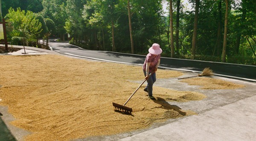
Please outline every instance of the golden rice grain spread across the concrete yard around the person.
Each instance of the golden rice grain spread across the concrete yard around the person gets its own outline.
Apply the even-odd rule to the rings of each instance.
[[[62,55],[0,56],[0,105],[15,117],[11,124],[31,134],[26,141],[69,141],[113,135],[150,127],[155,122],[197,113],[168,100],[202,100],[198,92],[154,86],[156,101],[140,88],[126,106],[133,115],[114,112],[112,102],[123,104],[144,76],[141,66],[69,58]],[[157,70],[157,78],[181,72]]]

